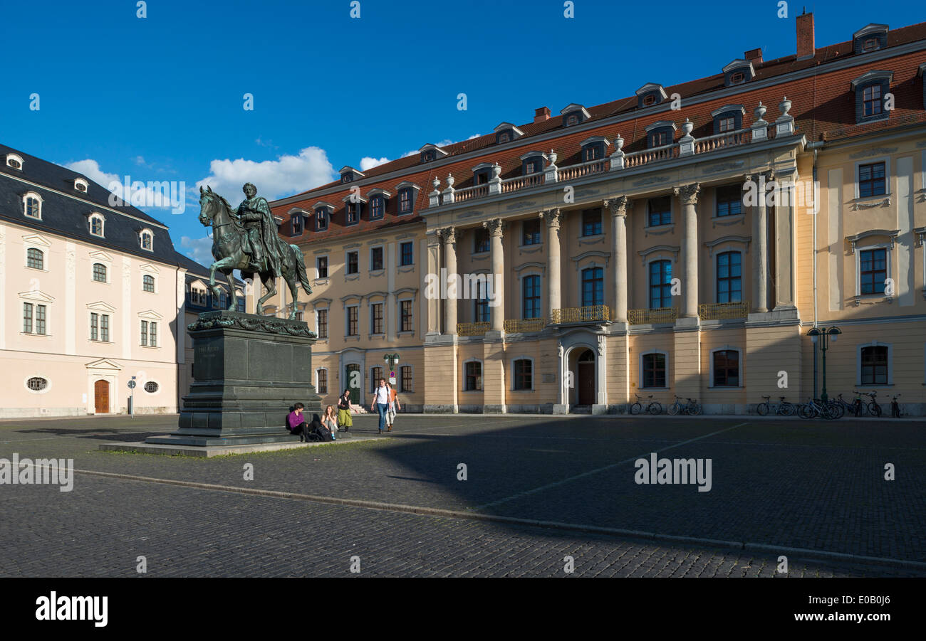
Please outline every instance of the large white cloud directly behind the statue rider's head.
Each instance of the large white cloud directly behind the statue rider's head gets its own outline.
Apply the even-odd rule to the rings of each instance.
[[[272,200],[310,190],[336,176],[325,150],[306,147],[298,155],[285,154],[277,160],[213,160],[209,163],[209,175],[195,186],[208,185],[230,203],[237,203],[244,198],[241,188],[245,182],[253,182],[258,195]]]

